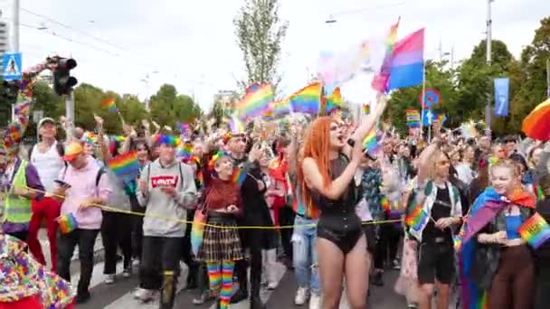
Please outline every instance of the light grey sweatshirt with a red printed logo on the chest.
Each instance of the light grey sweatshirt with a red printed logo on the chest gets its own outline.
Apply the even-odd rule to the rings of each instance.
[[[184,237],[187,211],[185,207],[194,205],[196,186],[191,166],[174,161],[163,166],[159,159],[143,168],[140,179],[147,181],[147,194],[137,191],[137,201],[146,207],[143,219],[143,235],[152,237]],[[175,197],[161,191],[162,186],[174,186]],[[164,220],[153,217],[173,218]]]

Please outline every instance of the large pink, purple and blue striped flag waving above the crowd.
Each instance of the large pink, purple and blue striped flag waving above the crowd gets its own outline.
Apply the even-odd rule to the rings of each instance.
[[[424,29],[396,42],[390,67],[389,89],[422,84],[424,76]]]

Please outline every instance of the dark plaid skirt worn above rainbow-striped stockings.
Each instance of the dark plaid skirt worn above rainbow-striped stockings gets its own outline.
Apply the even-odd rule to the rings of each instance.
[[[204,227],[203,244],[198,258],[205,262],[234,261],[242,259],[242,245],[234,219],[209,218]],[[227,229],[230,228],[230,229]]]

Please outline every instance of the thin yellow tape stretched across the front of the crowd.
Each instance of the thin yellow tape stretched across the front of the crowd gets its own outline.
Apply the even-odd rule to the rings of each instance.
[[[55,193],[52,193],[52,192],[37,190],[37,189],[30,188],[30,187],[26,187],[26,189],[28,189],[30,191],[33,191],[33,192],[39,192],[39,193],[47,194],[47,196],[53,196],[53,197],[57,197],[57,198],[60,198],[60,199],[65,198],[62,195],[55,194]],[[271,227],[268,227],[268,226],[255,226],[255,225],[235,226],[235,227],[220,227],[219,225],[208,224],[208,223],[205,223],[205,222],[194,222],[194,221],[190,221],[190,220],[182,220],[182,219],[177,219],[177,218],[158,216],[158,215],[152,214],[152,213],[146,214],[146,213],[141,213],[141,212],[136,212],[136,211],[124,211],[124,210],[119,210],[118,208],[115,208],[115,207],[105,206],[105,205],[101,205],[101,204],[97,204],[97,203],[91,203],[90,206],[99,208],[102,211],[119,212],[119,213],[135,215],[135,216],[142,216],[142,217],[148,217],[148,218],[159,219],[159,220],[175,221],[175,222],[184,223],[184,224],[188,224],[188,223],[195,223],[196,224],[196,223],[198,223],[200,225],[203,225],[204,227],[210,227],[210,228],[214,228],[214,229],[294,229],[294,228],[311,228],[311,227],[317,226],[316,223],[310,223],[310,224],[296,224],[296,225],[283,225],[283,226],[271,226]],[[401,221],[403,221],[403,219],[368,221],[368,222],[362,222],[362,225],[395,223],[395,222],[401,222]]]

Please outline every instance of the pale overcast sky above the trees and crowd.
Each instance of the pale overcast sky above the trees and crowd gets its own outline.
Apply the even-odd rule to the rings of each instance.
[[[12,20],[13,3],[0,0],[1,18]],[[52,54],[72,57],[78,62],[72,75],[80,82],[142,99],[170,83],[208,110],[216,92],[236,89],[236,80],[244,76],[232,23],[243,4],[244,0],[20,0],[23,67]],[[496,0],[493,39],[506,42],[518,57],[549,13],[550,1]],[[399,38],[425,27],[425,59],[437,60],[451,51],[455,63],[468,58],[485,38],[487,1],[280,0],[280,15],[289,22],[282,44],[280,90],[289,94],[306,86],[316,73],[320,51],[386,33],[399,17]],[[336,23],[326,23],[329,19]],[[450,60],[450,55],[443,57]],[[359,76],[346,83],[344,98],[371,101],[371,78]]]

